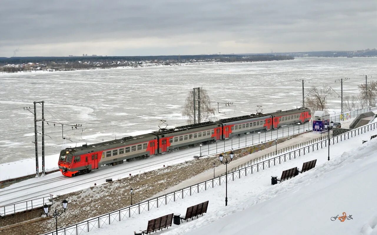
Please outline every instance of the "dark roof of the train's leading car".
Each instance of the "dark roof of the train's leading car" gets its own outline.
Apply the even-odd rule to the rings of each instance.
[[[137,143],[151,140],[151,139],[156,139],[156,136],[150,133],[147,133],[144,135],[127,136],[121,139],[114,139],[114,140],[105,141],[105,142],[97,143],[97,144],[89,144],[89,145],[83,144],[82,146],[78,146],[74,148],[66,148],[66,149],[72,150],[73,152],[75,152],[75,154],[80,153],[81,155],[88,152],[97,152],[97,151],[102,151],[106,149],[121,147],[124,145],[129,145],[129,144],[137,144]]]

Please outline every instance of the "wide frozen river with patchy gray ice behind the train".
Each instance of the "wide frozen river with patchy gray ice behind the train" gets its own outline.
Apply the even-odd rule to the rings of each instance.
[[[327,84],[340,94],[335,79],[350,77],[343,85],[344,95],[356,94],[357,85],[365,82],[360,74],[375,79],[377,58],[0,74],[0,164],[34,158],[34,116],[23,110],[33,101],[45,101],[46,120],[82,124],[82,129],[74,130],[64,126],[66,139],[61,125],[46,125],[49,156],[76,143],[157,130],[161,119],[170,126],[184,125],[182,105],[194,87],[207,89],[214,102],[234,103],[219,105],[220,119],[255,113],[257,105],[263,106],[263,112],[300,107],[302,84],[296,79],[310,81],[305,88]],[[217,111],[217,104],[213,106]],[[333,98],[329,106],[340,109],[340,98]]]

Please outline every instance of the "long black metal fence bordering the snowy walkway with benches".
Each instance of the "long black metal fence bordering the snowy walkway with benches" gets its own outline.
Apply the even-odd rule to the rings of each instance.
[[[334,136],[330,138],[330,144],[339,143],[340,141],[368,132],[369,130],[374,130],[376,127],[377,127],[377,123],[371,123],[366,126],[359,127],[357,129],[343,133],[341,135]],[[185,197],[192,196],[193,194],[206,191],[209,188],[214,188],[218,185],[222,185],[225,183],[225,180],[228,180],[228,182],[230,182],[235,179],[239,179],[242,176],[247,176],[249,174],[253,174],[261,170],[264,170],[266,168],[273,167],[277,164],[281,164],[282,162],[299,158],[300,156],[303,156],[305,154],[314,152],[321,148],[325,148],[327,147],[327,145],[328,145],[328,140],[327,139],[322,140],[317,143],[304,146],[300,149],[287,152],[284,155],[276,156],[274,158],[266,159],[256,164],[248,165],[244,168],[240,168],[236,171],[233,171],[227,175],[214,177],[213,179],[206,180],[204,182],[200,182],[200,183],[197,183],[197,184],[185,187],[185,188],[181,188],[171,193],[167,193],[167,194],[155,197],[153,199],[149,199],[144,202],[134,204],[132,206],[127,206],[117,211],[113,211],[104,215],[100,215],[95,218],[91,218],[89,220],[82,221],[77,224],[73,224],[71,226],[61,228],[58,230],[58,234],[56,234],[56,232],[49,232],[49,233],[45,233],[44,235],[81,235],[86,232],[90,232],[92,230],[101,228],[107,224],[112,224],[116,221],[121,221],[126,218],[132,217],[135,214],[141,214],[143,212],[150,211],[154,208],[159,208],[161,206],[164,206],[169,202],[175,202],[177,200],[184,199]]]

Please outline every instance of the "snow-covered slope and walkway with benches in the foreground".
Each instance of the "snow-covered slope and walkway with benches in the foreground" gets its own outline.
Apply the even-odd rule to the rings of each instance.
[[[375,134],[377,130],[330,146],[330,161],[325,148],[231,181],[227,207],[222,185],[89,234],[133,234],[146,229],[150,219],[173,212],[184,215],[188,206],[207,200],[204,216],[154,234],[377,234],[372,206],[377,193],[377,138],[362,144]],[[313,159],[316,168],[271,185],[271,175],[280,176],[283,170]],[[343,212],[352,219],[331,220]]]

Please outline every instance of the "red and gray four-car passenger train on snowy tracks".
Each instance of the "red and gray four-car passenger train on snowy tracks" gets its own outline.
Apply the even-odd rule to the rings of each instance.
[[[129,161],[132,158],[209,144],[244,133],[277,129],[287,124],[305,123],[310,119],[309,109],[298,108],[162,129],[144,135],[66,148],[60,152],[58,165],[64,176],[72,177],[104,165],[122,164],[124,160]]]

